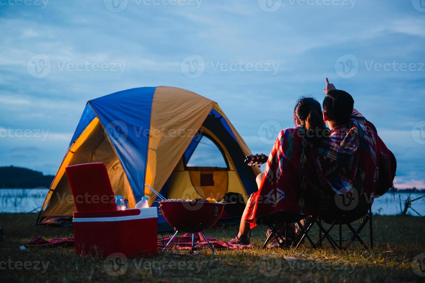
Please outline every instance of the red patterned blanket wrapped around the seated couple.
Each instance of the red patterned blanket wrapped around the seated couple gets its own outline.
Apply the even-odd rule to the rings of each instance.
[[[258,192],[251,196],[245,220],[280,211],[326,215],[336,208],[335,195],[351,191],[373,201],[380,151],[388,149],[372,123],[354,109],[340,144],[324,139],[313,144],[303,126],[284,129],[267,160]],[[341,134],[341,133],[340,133]]]

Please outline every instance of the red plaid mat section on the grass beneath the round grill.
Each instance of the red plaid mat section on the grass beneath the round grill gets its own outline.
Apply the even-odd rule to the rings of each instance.
[[[165,245],[170,241],[172,236],[166,236],[163,238],[158,238],[158,248],[164,248]],[[252,244],[250,245],[238,245],[231,244],[230,242],[218,241],[217,239],[207,237],[208,241],[214,249],[251,249]],[[192,234],[186,233],[182,236],[176,236],[173,238],[173,241],[168,245],[168,247],[175,247],[178,249],[191,249],[192,248]],[[168,248],[167,247],[167,248]],[[208,247],[207,241],[202,238],[201,234],[195,234],[195,248],[198,247]]]

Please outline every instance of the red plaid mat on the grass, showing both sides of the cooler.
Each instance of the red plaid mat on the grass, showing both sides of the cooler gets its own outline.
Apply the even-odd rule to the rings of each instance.
[[[158,248],[162,249],[170,241],[172,236],[166,236],[158,238]],[[210,244],[215,249],[244,249],[252,248],[251,245],[237,245],[230,244],[230,242],[218,241],[217,239],[207,237]],[[51,247],[74,247],[74,238],[52,238],[50,241],[46,241],[41,237],[34,237],[31,241],[24,244],[23,247],[40,247],[40,248],[51,248]],[[176,236],[173,241],[168,245],[169,247],[176,247],[178,249],[191,249],[192,248],[192,234],[184,234],[182,236]],[[207,241],[201,238],[201,235],[195,234],[195,247],[208,247]]]

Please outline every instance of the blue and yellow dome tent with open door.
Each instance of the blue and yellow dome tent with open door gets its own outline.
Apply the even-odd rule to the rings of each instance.
[[[187,163],[203,136],[220,149],[225,166]],[[246,202],[260,173],[244,165],[249,153],[217,103],[194,92],[140,87],[105,95],[88,101],[37,223],[70,223],[76,209],[65,167],[81,163],[105,163],[114,193],[127,198],[130,208],[142,196],[156,205],[145,183],[170,199],[236,193]]]

